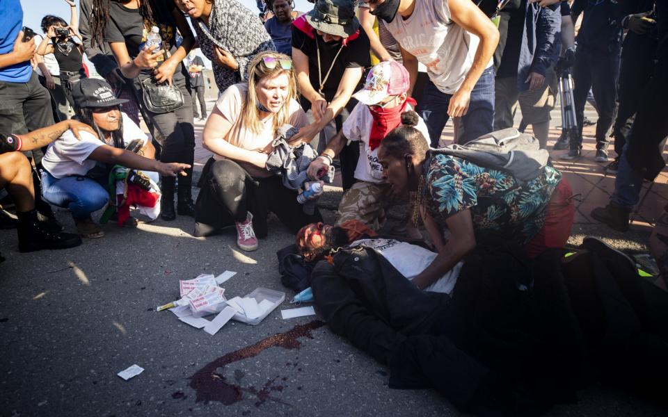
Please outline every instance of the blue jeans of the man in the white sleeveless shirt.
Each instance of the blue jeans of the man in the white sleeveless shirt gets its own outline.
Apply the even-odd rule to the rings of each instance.
[[[447,106],[450,105],[451,94],[445,94],[436,88],[429,80],[424,85],[420,103],[417,104],[417,113],[427,124],[431,147],[438,147],[443,128],[450,116],[447,115]],[[494,124],[494,67],[489,67],[480,76],[471,91],[471,101],[468,111],[461,119],[464,125],[464,135],[460,144],[491,132]]]

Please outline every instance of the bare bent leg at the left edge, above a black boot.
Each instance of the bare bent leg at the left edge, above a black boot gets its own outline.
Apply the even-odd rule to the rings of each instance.
[[[35,208],[33,173],[28,158],[20,152],[0,155],[0,188],[7,187],[16,211],[26,213]]]

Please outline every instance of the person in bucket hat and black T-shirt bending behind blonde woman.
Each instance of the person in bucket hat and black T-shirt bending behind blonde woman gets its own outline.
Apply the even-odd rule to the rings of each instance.
[[[320,133],[321,151],[341,129],[356,104],[351,96],[361,87],[364,69],[371,66],[370,48],[351,0],[317,0],[310,13],[292,22],[292,59],[301,102],[315,120],[296,139],[311,140]],[[358,156],[356,146],[340,152],[344,189],[355,181]]]

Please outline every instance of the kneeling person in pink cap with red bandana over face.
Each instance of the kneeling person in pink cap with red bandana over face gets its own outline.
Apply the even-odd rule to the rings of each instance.
[[[343,195],[335,224],[359,220],[377,230],[385,220],[385,209],[402,197],[407,200],[408,196],[394,195],[390,184],[383,180],[378,147],[381,140],[401,124],[401,114],[411,110],[409,105],[415,106],[415,100],[407,95],[409,85],[410,76],[403,65],[385,61],[373,67],[364,88],[353,95],[359,103],[339,133],[308,167],[309,176],[317,179],[319,173],[327,171],[332,159],[349,140],[359,142],[360,158],[355,169],[357,181]],[[422,119],[415,129],[422,131],[425,138],[429,137]]]

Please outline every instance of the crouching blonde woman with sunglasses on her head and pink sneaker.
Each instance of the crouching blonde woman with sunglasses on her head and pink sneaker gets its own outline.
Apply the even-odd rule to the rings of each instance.
[[[237,246],[256,250],[257,237],[267,236],[269,211],[292,233],[321,220],[317,209],[305,214],[297,192],[266,168],[280,126],[308,125],[296,93],[292,60],[264,51],[248,65],[248,83],[231,85],[218,98],[204,128],[202,145],[214,156],[202,170],[195,236],[236,224]]]

